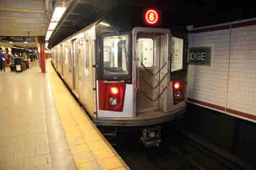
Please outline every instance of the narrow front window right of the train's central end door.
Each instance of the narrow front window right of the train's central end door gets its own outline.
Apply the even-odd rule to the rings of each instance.
[[[172,38],[172,72],[183,68],[183,39]]]

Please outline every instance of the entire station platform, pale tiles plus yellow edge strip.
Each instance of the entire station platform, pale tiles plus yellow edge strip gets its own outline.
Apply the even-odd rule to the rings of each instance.
[[[50,59],[0,72],[0,169],[130,169],[84,114]]]

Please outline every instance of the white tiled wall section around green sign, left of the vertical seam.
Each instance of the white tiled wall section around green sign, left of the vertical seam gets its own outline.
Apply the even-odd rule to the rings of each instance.
[[[230,30],[189,34],[189,47],[211,46],[211,66],[188,65],[187,97],[226,107]]]

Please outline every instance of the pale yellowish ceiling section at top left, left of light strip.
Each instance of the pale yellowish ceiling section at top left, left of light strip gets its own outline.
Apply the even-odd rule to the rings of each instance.
[[[46,11],[41,0],[0,1],[1,36],[45,36]]]

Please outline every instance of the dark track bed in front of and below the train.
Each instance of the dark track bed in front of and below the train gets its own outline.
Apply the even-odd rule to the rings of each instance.
[[[251,169],[210,151],[179,132],[168,134],[163,136],[159,147],[148,148],[138,142],[138,136],[120,134],[115,149],[131,169]]]

